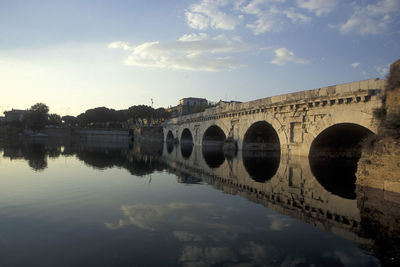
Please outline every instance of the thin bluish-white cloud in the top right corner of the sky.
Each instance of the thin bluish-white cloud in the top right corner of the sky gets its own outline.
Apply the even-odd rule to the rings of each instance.
[[[392,21],[391,14],[397,13],[399,9],[399,0],[382,0],[366,6],[357,5],[354,13],[339,29],[343,33],[378,34],[387,30]]]

